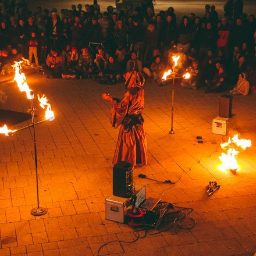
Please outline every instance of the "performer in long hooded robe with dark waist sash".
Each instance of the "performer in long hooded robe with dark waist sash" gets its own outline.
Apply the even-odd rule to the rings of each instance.
[[[111,123],[118,128],[119,136],[116,143],[113,164],[119,161],[131,163],[133,166],[147,164],[147,138],[143,128],[144,109],[144,77],[135,70],[125,75],[127,92],[122,100],[102,94],[102,98],[112,102]]]

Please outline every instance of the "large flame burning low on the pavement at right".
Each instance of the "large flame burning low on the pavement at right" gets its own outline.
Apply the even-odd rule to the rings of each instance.
[[[236,147],[236,149],[234,148]],[[237,170],[239,165],[236,160],[236,155],[239,154],[239,148],[246,150],[246,148],[251,147],[251,141],[245,140],[244,138],[239,138],[238,134],[235,134],[232,138],[229,137],[229,140],[225,143],[221,143],[221,148],[227,149],[227,154],[222,152],[219,159],[222,161],[220,169],[230,169]]]

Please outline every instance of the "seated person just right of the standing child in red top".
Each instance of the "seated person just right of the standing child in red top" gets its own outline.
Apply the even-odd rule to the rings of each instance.
[[[44,73],[47,77],[61,77],[62,72],[62,56],[59,52],[52,48],[51,52],[47,55],[46,66],[44,67]]]

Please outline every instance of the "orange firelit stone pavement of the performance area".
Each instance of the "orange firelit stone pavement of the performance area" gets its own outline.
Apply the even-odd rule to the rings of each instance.
[[[122,84],[105,86],[94,80],[28,78],[36,93],[51,100],[56,119],[37,126],[40,204],[46,215],[34,217],[36,206],[33,139],[31,130],[13,137],[0,136],[0,255],[97,255],[111,240],[132,240],[133,230],[105,220],[105,198],[112,194],[112,156],[118,130],[109,123],[109,102],[102,93],[122,97]],[[26,112],[30,102],[14,83],[1,84],[8,101],[3,109]],[[137,187],[147,195],[184,207],[193,207],[197,225],[150,235],[136,243],[113,243],[101,250],[112,255],[253,255],[256,251],[256,95],[235,97],[237,130],[252,140],[239,155],[237,175],[217,169],[218,147],[227,136],[211,133],[218,115],[219,94],[176,87],[175,134],[170,130],[170,86],[145,85],[145,129],[148,165],[134,169]],[[37,105],[37,102],[36,102]],[[43,111],[38,106],[38,118]],[[20,123],[22,127],[29,122]],[[13,128],[13,127],[11,127]],[[204,138],[198,144],[196,136]],[[218,152],[214,152],[218,150]],[[211,157],[208,157],[211,155]],[[202,158],[203,157],[203,158]],[[200,163],[198,163],[198,160]],[[158,184],[137,177],[144,173]],[[211,180],[221,189],[211,197],[205,187]]]

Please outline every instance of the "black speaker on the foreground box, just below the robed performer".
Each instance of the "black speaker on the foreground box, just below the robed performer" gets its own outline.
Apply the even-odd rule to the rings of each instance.
[[[133,194],[133,165],[124,161],[113,166],[113,195],[129,198]]]

